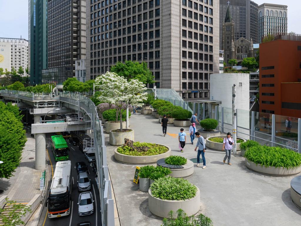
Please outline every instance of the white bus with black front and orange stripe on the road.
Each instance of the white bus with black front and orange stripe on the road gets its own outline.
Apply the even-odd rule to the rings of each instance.
[[[48,217],[57,218],[70,214],[71,205],[71,161],[60,161],[55,165],[49,196]]]

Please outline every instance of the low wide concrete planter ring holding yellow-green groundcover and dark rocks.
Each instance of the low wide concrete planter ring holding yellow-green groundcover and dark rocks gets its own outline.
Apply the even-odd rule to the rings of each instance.
[[[131,140],[131,139],[130,139]],[[124,143],[124,140],[123,140]],[[141,165],[141,164],[150,164],[156,163],[158,159],[166,158],[171,155],[171,148],[169,146],[160,144],[168,148],[168,151],[160,155],[149,155],[149,156],[132,156],[132,155],[123,155],[117,152],[117,148],[114,151],[114,157],[118,162],[125,164]]]

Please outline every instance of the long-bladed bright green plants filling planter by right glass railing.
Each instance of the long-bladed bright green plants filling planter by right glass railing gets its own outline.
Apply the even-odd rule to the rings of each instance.
[[[252,146],[245,152],[245,158],[260,165],[293,168],[301,165],[301,154],[281,147]]]

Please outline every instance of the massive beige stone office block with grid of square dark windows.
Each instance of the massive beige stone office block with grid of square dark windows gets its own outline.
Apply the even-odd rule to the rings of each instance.
[[[219,72],[217,1],[91,0],[88,12],[87,79],[117,61],[145,61],[157,88],[209,97],[210,74]]]

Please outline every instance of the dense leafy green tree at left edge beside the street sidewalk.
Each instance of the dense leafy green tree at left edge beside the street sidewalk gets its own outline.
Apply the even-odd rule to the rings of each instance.
[[[21,117],[17,106],[0,102],[0,178],[12,177],[21,162],[27,140]]]

